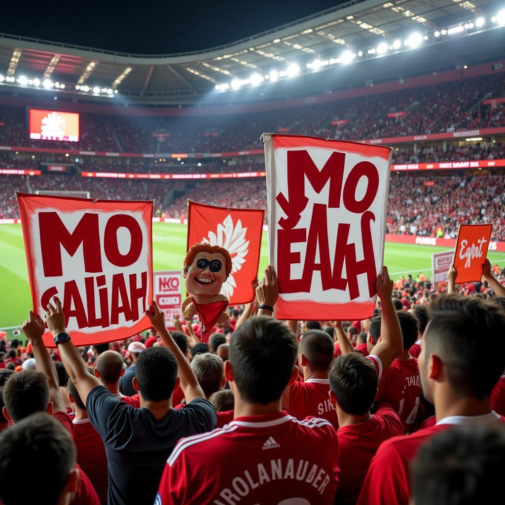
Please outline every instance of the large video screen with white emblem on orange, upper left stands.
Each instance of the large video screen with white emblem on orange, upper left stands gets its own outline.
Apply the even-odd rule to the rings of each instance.
[[[79,114],[30,109],[30,138],[79,141]]]

